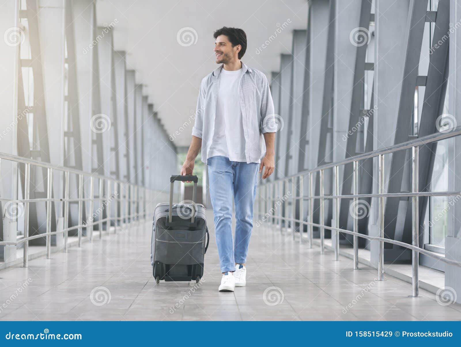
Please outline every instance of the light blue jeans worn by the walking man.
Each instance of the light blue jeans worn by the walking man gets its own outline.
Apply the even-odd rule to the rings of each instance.
[[[212,156],[207,165],[219,265],[221,272],[235,271],[235,263],[243,264],[247,259],[260,164],[231,162],[225,156]],[[233,244],[232,197],[236,217]]]

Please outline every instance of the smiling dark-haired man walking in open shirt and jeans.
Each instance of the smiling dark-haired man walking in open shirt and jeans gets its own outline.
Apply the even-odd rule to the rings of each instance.
[[[192,141],[181,169],[192,174],[194,160],[208,166],[216,244],[223,273],[219,291],[246,284],[246,258],[253,228],[258,168],[263,179],[274,171],[275,117],[269,83],[243,64],[247,35],[223,27],[214,32],[216,63],[201,81]],[[232,198],[236,214],[232,243]]]

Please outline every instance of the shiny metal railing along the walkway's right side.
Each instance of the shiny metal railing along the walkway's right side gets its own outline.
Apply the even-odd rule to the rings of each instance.
[[[334,253],[335,259],[338,260],[339,255],[339,233],[343,232],[349,235],[353,235],[353,248],[354,248],[354,269],[358,269],[358,237],[362,237],[368,240],[378,241],[378,280],[384,280],[384,242],[392,243],[407,249],[411,249],[412,251],[412,296],[416,297],[419,295],[419,279],[418,279],[418,268],[419,268],[419,254],[425,254],[430,256],[434,259],[440,260],[445,264],[460,266],[461,263],[455,260],[447,259],[441,255],[434,254],[426,249],[422,249],[419,247],[419,197],[452,197],[452,196],[461,196],[461,192],[459,191],[435,191],[435,192],[428,192],[428,191],[419,191],[418,187],[418,177],[419,177],[419,147],[422,145],[431,144],[437,141],[441,141],[443,139],[450,139],[455,136],[461,135],[461,126],[456,127],[453,131],[447,133],[433,133],[418,139],[412,139],[407,142],[403,142],[401,144],[392,145],[389,147],[381,148],[378,150],[373,150],[367,153],[361,153],[356,156],[351,156],[345,158],[343,160],[337,162],[331,162],[325,165],[320,165],[316,168],[304,170],[299,173],[295,173],[284,179],[275,179],[270,182],[263,183],[258,186],[258,190],[260,194],[258,194],[257,199],[257,214],[261,218],[264,211],[268,210],[268,206],[270,205],[270,212],[273,213],[276,211],[277,208],[274,208],[275,204],[277,203],[278,206],[281,204],[285,205],[284,213],[283,209],[280,209],[279,215],[269,215],[265,214],[265,217],[268,217],[270,224],[276,224],[280,230],[282,230],[282,220],[285,221],[285,227],[288,229],[288,223],[291,222],[292,226],[295,223],[300,223],[300,243],[302,242],[302,233],[301,233],[301,225],[307,225],[307,239],[309,242],[310,247],[313,245],[313,226],[319,228],[320,232],[320,253],[323,254],[325,250],[325,229],[334,231],[334,235],[332,235],[331,239],[334,238]],[[412,150],[411,156],[411,192],[404,192],[404,193],[384,193],[384,155],[395,153],[399,150]],[[379,177],[379,192],[378,194],[359,194],[358,193],[358,185],[359,185],[359,174],[358,174],[358,162],[365,159],[370,159],[374,157],[379,157],[378,161],[378,177]],[[339,194],[339,167],[341,165],[346,165],[353,163],[353,185],[352,185],[352,194],[342,195]],[[333,169],[333,194],[325,195],[324,194],[324,171],[327,169]],[[313,174],[319,173],[319,184],[320,184],[320,195],[316,196],[313,193]],[[308,177],[309,182],[309,195],[304,195],[304,179]],[[299,178],[299,191],[300,194],[296,196],[296,179]],[[289,185],[291,183],[291,191],[289,190]],[[278,195],[275,192],[278,192]],[[285,191],[285,194],[282,194]],[[291,192],[295,192],[295,194],[291,194]],[[290,194],[288,194],[290,193]],[[282,201],[282,196],[286,194],[290,195],[290,197],[285,198]],[[358,202],[359,198],[366,198],[366,197],[377,197],[378,198],[378,230],[379,236],[373,237],[369,235],[364,235],[358,232],[358,219],[354,218],[354,227],[353,231],[349,231],[346,229],[339,228],[339,200],[340,199],[354,199],[354,203]],[[392,240],[389,238],[384,237],[384,198],[386,197],[411,197],[412,198],[412,244],[404,243],[401,241]],[[319,211],[319,220],[321,224],[313,223],[313,202],[315,199],[320,200],[320,211]],[[334,225],[327,226],[325,225],[324,221],[324,202],[325,199],[332,199],[333,200],[333,222]],[[262,201],[264,200],[264,202]],[[304,207],[303,203],[304,200],[309,202],[309,209],[307,213],[307,220],[304,220]],[[288,202],[292,202],[291,213],[292,217],[288,217]],[[296,201],[299,201],[299,215],[301,216],[300,219],[296,219]],[[295,237],[295,228],[292,227],[293,237]]]

